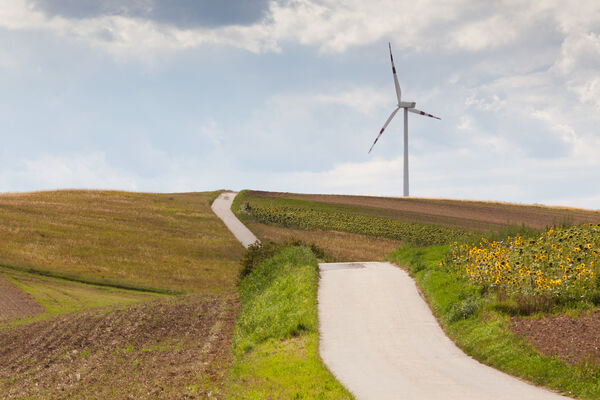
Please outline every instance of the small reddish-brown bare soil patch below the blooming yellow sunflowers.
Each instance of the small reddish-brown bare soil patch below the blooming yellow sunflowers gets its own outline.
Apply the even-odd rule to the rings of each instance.
[[[600,363],[600,310],[579,318],[512,318],[511,329],[545,355],[573,364]]]

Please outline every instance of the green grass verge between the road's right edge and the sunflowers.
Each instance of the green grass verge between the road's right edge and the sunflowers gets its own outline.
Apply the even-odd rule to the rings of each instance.
[[[406,266],[448,336],[467,354],[536,385],[569,396],[600,398],[600,368],[570,365],[540,354],[514,335],[510,315],[498,310],[495,300],[438,265],[448,246],[404,246],[388,259]]]

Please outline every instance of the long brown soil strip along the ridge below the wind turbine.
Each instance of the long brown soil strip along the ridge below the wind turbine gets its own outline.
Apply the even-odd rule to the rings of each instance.
[[[597,223],[600,211],[577,208],[519,205],[483,201],[424,198],[371,197],[322,194],[295,194],[249,191],[262,198],[294,198],[377,210],[382,215],[408,222],[436,223],[470,229],[499,229],[506,225],[525,224],[542,229],[562,222],[571,224]]]

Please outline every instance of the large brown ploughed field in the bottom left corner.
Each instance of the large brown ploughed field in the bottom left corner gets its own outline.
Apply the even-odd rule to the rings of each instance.
[[[233,295],[88,310],[0,330],[3,399],[220,397]]]

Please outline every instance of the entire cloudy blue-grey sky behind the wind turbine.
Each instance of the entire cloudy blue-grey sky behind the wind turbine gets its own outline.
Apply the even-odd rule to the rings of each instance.
[[[2,0],[0,192],[219,188],[600,209],[597,0]]]

